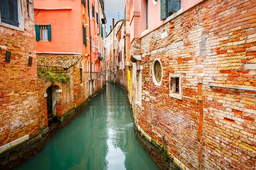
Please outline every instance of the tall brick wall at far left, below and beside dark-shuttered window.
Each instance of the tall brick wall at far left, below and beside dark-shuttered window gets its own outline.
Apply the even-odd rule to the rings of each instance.
[[[25,31],[0,26],[0,146],[37,135],[44,115],[38,94],[33,3],[23,0],[22,10]],[[10,63],[5,62],[6,50],[11,51]]]

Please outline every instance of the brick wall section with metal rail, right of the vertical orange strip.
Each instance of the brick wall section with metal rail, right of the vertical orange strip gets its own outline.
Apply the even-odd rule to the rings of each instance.
[[[206,1],[203,169],[256,169],[256,1]]]

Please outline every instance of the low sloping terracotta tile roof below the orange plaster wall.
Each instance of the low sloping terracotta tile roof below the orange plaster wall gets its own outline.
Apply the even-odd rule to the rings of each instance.
[[[82,58],[81,55],[38,55],[37,65],[69,69]]]

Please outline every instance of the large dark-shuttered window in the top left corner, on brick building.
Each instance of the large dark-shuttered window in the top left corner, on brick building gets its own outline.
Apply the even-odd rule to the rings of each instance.
[[[1,0],[0,5],[1,22],[19,27],[18,1]]]

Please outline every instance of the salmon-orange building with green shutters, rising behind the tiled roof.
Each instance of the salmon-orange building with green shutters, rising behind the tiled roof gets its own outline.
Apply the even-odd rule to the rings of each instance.
[[[104,0],[35,0],[34,15],[37,54],[82,55],[85,73],[105,72]]]

